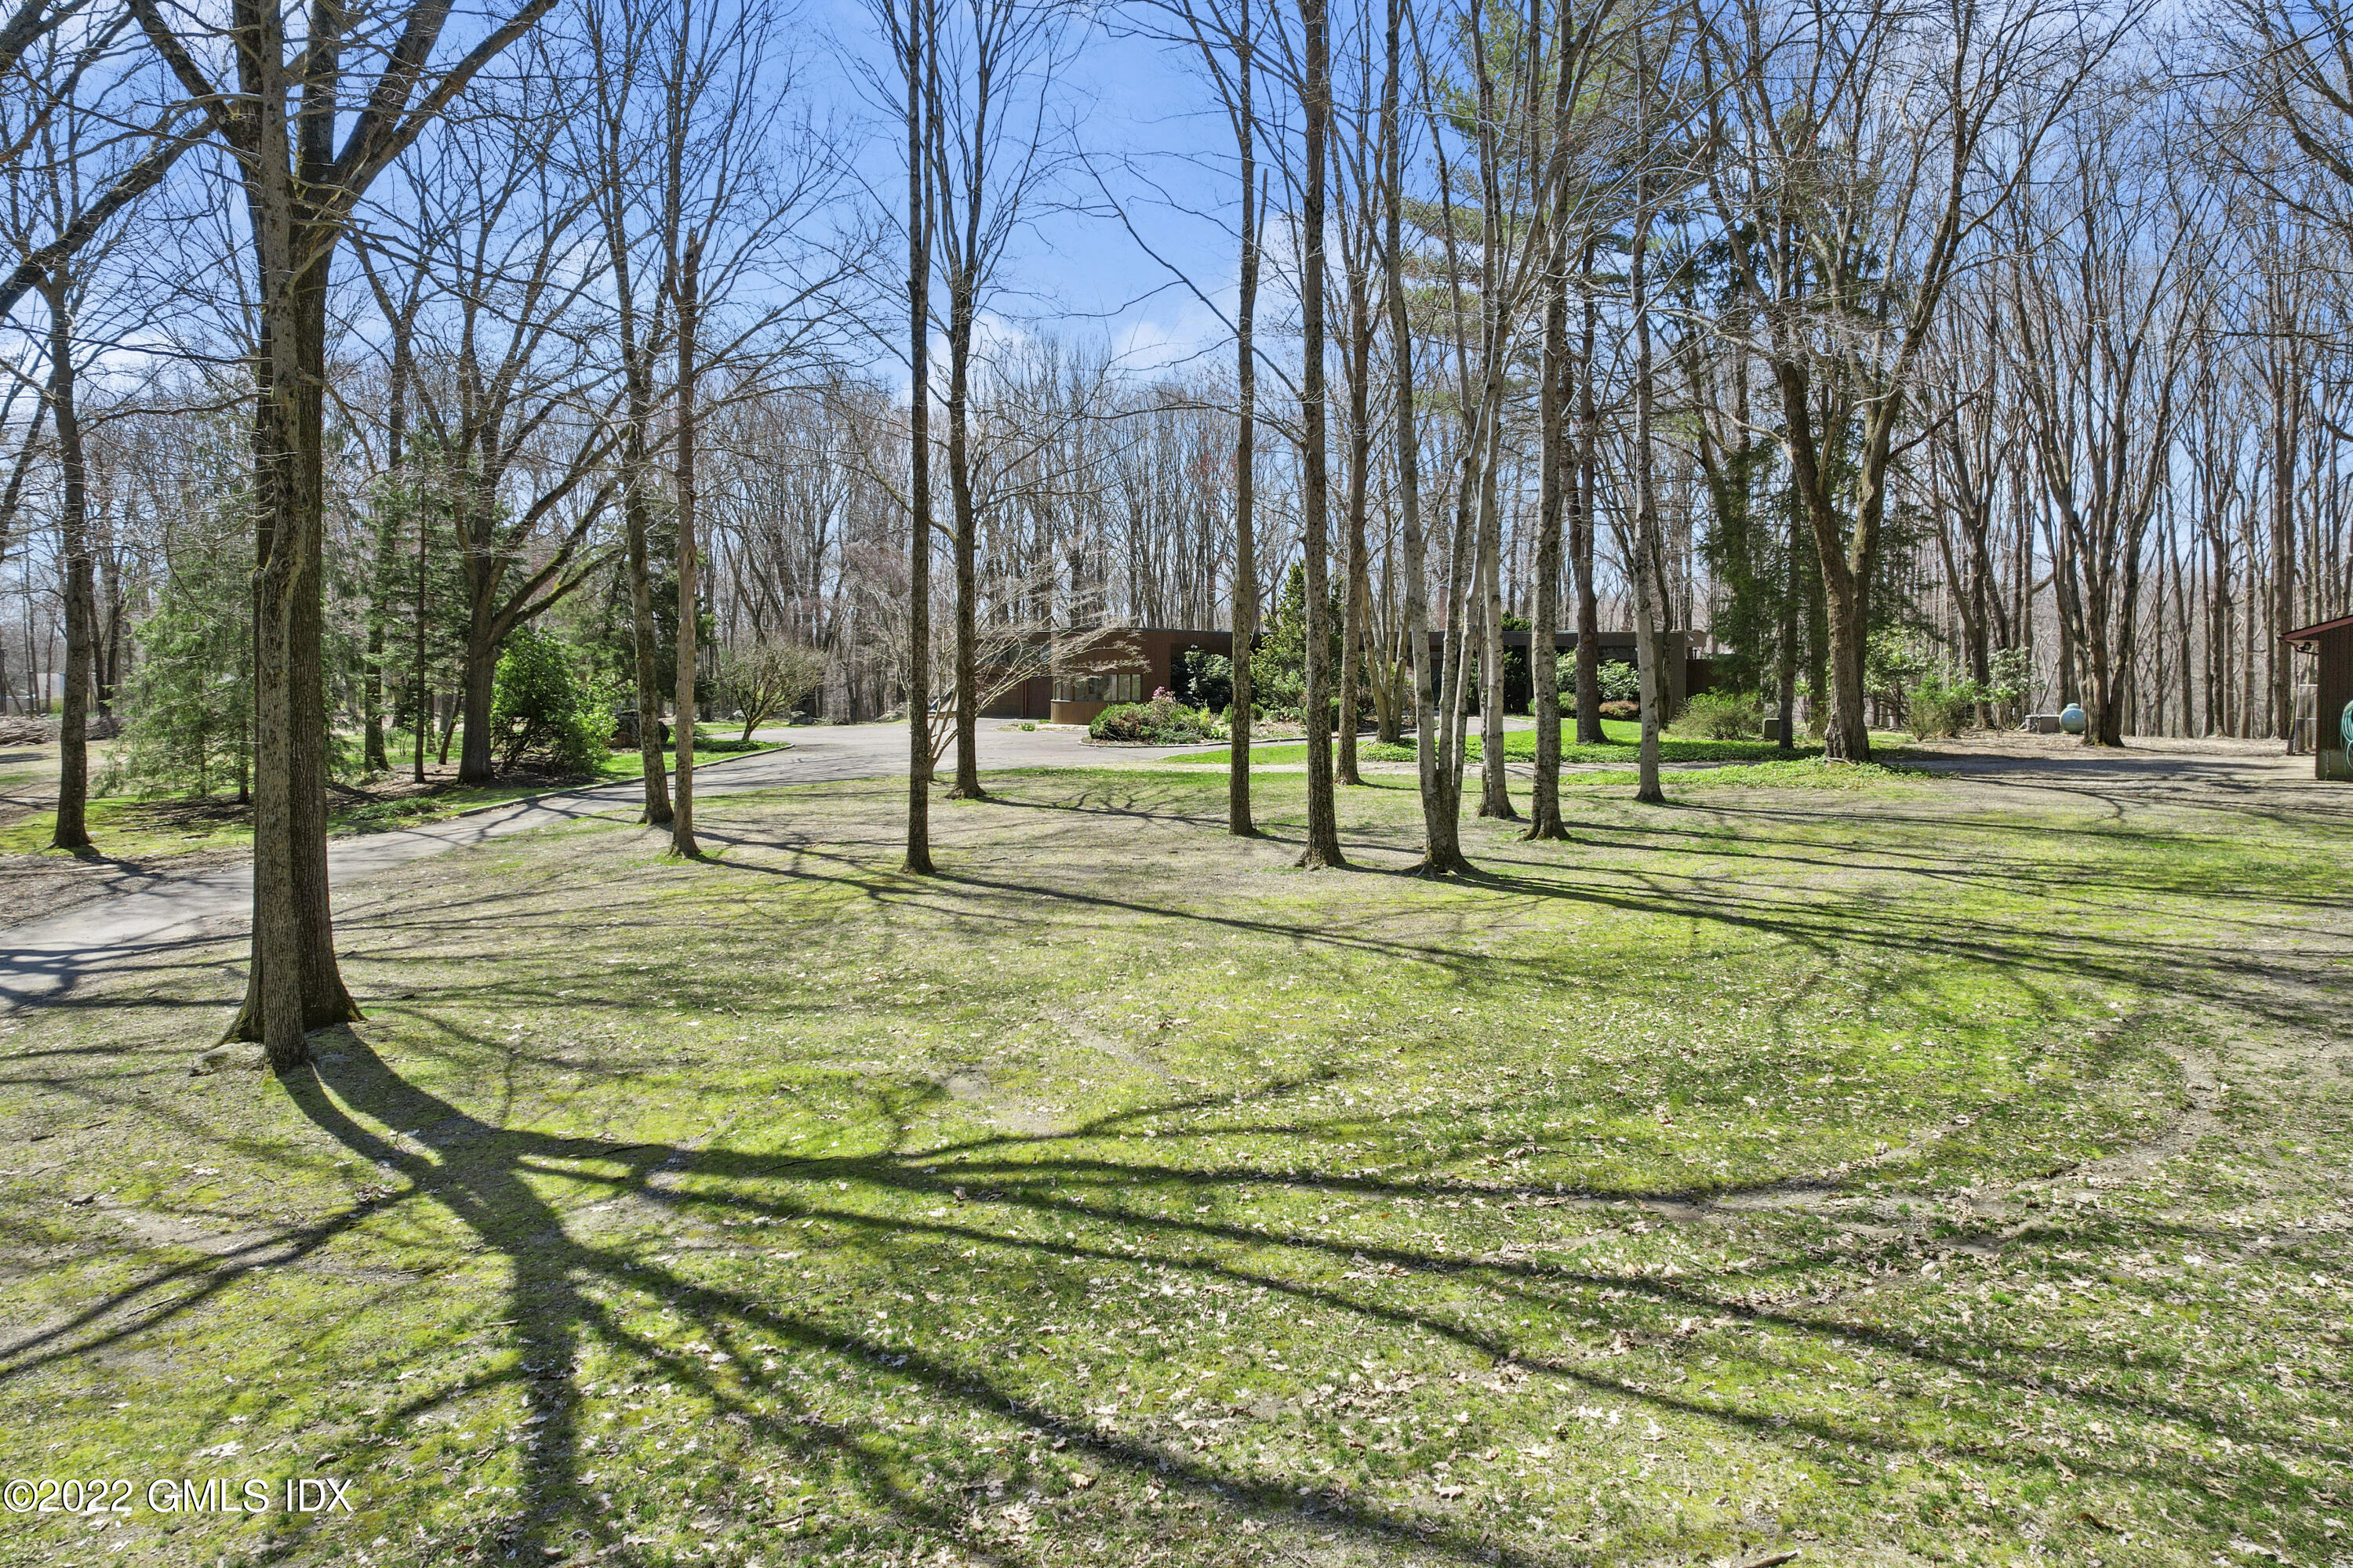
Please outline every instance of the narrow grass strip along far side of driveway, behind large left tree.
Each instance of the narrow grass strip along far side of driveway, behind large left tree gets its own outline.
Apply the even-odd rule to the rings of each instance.
[[[781,750],[774,743],[753,745],[755,752]],[[739,757],[739,750],[706,752],[694,748],[694,766],[711,766],[713,762],[725,762],[727,757]],[[664,766],[678,766],[678,752],[664,752]],[[395,778],[400,773],[395,771]],[[642,762],[638,752],[612,752],[598,766],[598,776],[586,783],[621,783],[642,776]],[[480,806],[494,806],[506,799],[522,799],[525,795],[546,795],[551,790],[565,790],[579,785],[548,783],[534,778],[527,783],[494,783],[494,785],[445,785],[426,795],[393,795],[386,799],[353,802],[346,795],[327,797],[327,832],[376,832],[384,827],[414,827],[416,823],[438,823],[461,811],[475,811]],[[249,849],[254,842],[254,820],[249,806],[238,806],[233,799],[202,799],[202,802],[151,802],[151,799],[125,799],[120,795],[99,797],[87,806],[89,839],[96,844],[99,853],[115,856],[122,860],[153,860],[160,856],[184,856],[193,851],[219,851],[219,849]],[[0,825],[0,856],[31,856],[31,853],[64,853],[49,849],[49,837],[56,832],[54,811],[35,811],[21,816],[14,823]]]

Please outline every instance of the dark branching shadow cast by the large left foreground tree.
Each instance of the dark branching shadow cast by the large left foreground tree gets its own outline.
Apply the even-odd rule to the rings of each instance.
[[[1414,1274],[1433,1276],[1480,1274],[1501,1288],[1515,1305],[1544,1307],[1553,1314],[1560,1314],[1565,1291],[1605,1286],[1626,1295],[1638,1295],[1645,1302],[1666,1309],[1725,1314],[1753,1326],[1774,1326],[1805,1338],[1826,1338],[1835,1333],[1859,1345],[1901,1354],[1929,1368],[1984,1371],[1984,1363],[1979,1359],[1962,1356],[1958,1345],[1955,1349],[1944,1349],[1922,1338],[1901,1338],[1868,1324],[1842,1321],[1838,1316],[1826,1319],[1805,1312],[1753,1309],[1737,1300],[1727,1300],[1725,1293],[1708,1291],[1697,1281],[1678,1284],[1671,1279],[1569,1269],[1565,1265],[1461,1258],[1419,1248],[1346,1241],[1329,1234],[1268,1234],[1235,1222],[1146,1213],[1118,1201],[1118,1185],[1139,1178],[1195,1185],[1287,1185],[1294,1190],[1318,1192],[1351,1190],[1386,1192],[1391,1197],[1428,1197],[1431,1190],[1417,1182],[1384,1185],[1367,1182],[1365,1178],[1254,1168],[1188,1171],[1162,1164],[1136,1166],[1111,1159],[1085,1159],[1075,1157],[1075,1152],[1073,1157],[1047,1161],[1033,1159],[1007,1164],[1002,1159],[993,1159],[993,1154],[1009,1152],[1012,1147],[1047,1143],[1042,1135],[972,1140],[906,1154],[885,1152],[831,1159],[746,1154],[734,1150],[689,1150],[668,1143],[621,1145],[600,1138],[515,1133],[492,1126],[489,1121],[461,1112],[452,1103],[416,1088],[348,1030],[322,1037],[320,1044],[322,1053],[318,1067],[285,1081],[294,1105],[299,1105],[304,1114],[311,1117],[311,1121],[341,1147],[348,1147],[379,1168],[395,1171],[409,1182],[407,1192],[388,1199],[388,1204],[426,1199],[440,1206],[459,1225],[464,1225],[475,1241],[504,1258],[511,1269],[501,1316],[515,1324],[520,1366],[511,1373],[478,1380],[468,1385],[466,1392],[478,1392],[499,1382],[522,1385],[522,1403],[527,1410],[522,1439],[525,1488],[515,1509],[504,1521],[496,1521],[499,1528],[492,1530],[485,1542],[494,1542],[518,1554],[555,1544],[555,1535],[562,1530],[586,1528],[591,1535],[602,1540],[607,1556],[633,1561],[631,1542],[619,1537],[619,1526],[598,1519],[593,1509],[588,1509],[581,1476],[584,1446],[576,1422],[581,1399],[576,1368],[581,1363],[584,1347],[588,1342],[602,1342],[614,1352],[628,1352],[652,1366],[659,1366],[666,1378],[694,1389],[711,1401],[715,1410],[739,1418],[762,1443],[791,1448],[802,1458],[831,1458],[840,1462],[859,1479],[859,1486],[873,1500],[908,1526],[944,1533],[958,1540],[967,1552],[993,1561],[1024,1561],[1021,1552],[995,1537],[974,1533],[972,1523],[962,1514],[946,1507],[936,1495],[927,1495],[922,1488],[911,1486],[896,1472],[887,1448],[875,1441],[875,1434],[842,1427],[833,1420],[821,1420],[807,1406],[776,1413],[753,1401],[748,1392],[736,1387],[732,1380],[718,1375],[711,1363],[682,1354],[678,1349],[680,1335],[656,1342],[645,1333],[633,1331],[607,1307],[605,1300],[593,1293],[593,1288],[614,1286],[652,1288],[661,1293],[680,1312],[694,1319],[701,1335],[706,1335],[713,1345],[725,1347],[736,1363],[748,1359],[758,1335],[772,1335],[779,1342],[793,1345],[805,1356],[833,1356],[859,1361],[871,1368],[885,1368],[911,1385],[920,1385],[932,1399],[948,1401],[972,1413],[986,1413],[991,1418],[1005,1418],[1009,1413],[1033,1432],[1066,1443],[1080,1443],[1108,1465],[1118,1465],[1139,1476],[1148,1474],[1162,1486],[1181,1486],[1195,1500],[1217,1509],[1245,1509],[1261,1516],[1294,1514],[1299,1509],[1297,1481],[1304,1479],[1264,1469],[1247,1472],[1238,1465],[1221,1467],[1214,1458],[1184,1453],[1174,1443],[1155,1443],[1144,1436],[1120,1434],[1089,1420],[1080,1410],[1054,1410],[1049,1406],[1040,1406],[984,1361],[941,1359],[918,1345],[894,1342],[864,1331],[845,1331],[840,1324],[826,1324],[816,1316],[793,1312],[779,1302],[755,1298],[748,1291],[689,1279],[661,1262],[647,1265],[633,1260],[619,1246],[595,1246],[574,1237],[565,1222],[565,1213],[536,1192],[534,1180],[546,1178],[591,1182],[605,1187],[609,1194],[635,1194],[666,1204],[673,1211],[736,1211],[767,1218],[821,1220],[866,1234],[889,1234],[911,1244],[936,1241],[998,1251],[1014,1248],[1019,1258],[1026,1260],[1021,1265],[1024,1274],[1033,1272],[1038,1262],[1066,1262],[1073,1267],[1153,1265],[1188,1269],[1193,1274],[1273,1291],[1294,1300],[1299,1309],[1346,1314],[1367,1326],[1407,1328],[1435,1335],[1499,1363],[1515,1363],[1537,1375],[1569,1380],[1579,1387],[1605,1389],[1626,1399],[1640,1399],[1661,1413],[1673,1410],[1692,1418],[1727,1422],[1765,1439],[1772,1439],[1777,1432],[1788,1427],[1824,1443],[1868,1448],[1889,1455],[1911,1453],[1920,1446],[1911,1436],[1875,1432],[1859,1420],[1838,1422],[1826,1415],[1800,1415],[1793,1420],[1788,1415],[1769,1415],[1765,1410],[1744,1410],[1704,1396],[1685,1396],[1673,1389],[1645,1387],[1631,1382],[1626,1375],[1609,1375],[1591,1363],[1581,1366],[1567,1359],[1532,1352],[1506,1333],[1475,1324],[1468,1316],[1445,1312],[1438,1305],[1384,1302],[1374,1300],[1369,1288],[1348,1293],[1329,1284],[1285,1279],[1278,1272],[1249,1267],[1247,1262],[1228,1260],[1217,1253],[1202,1255],[1176,1251],[1158,1239],[1144,1251],[1127,1246],[1115,1251],[1111,1246],[1059,1239],[1054,1234],[1028,1234],[1038,1227],[991,1227],[965,1222],[962,1218],[880,1218],[873,1213],[859,1213],[856,1208],[828,1201],[819,1194],[831,1192],[835,1182],[854,1180],[918,1199],[955,1197],[962,1201],[962,1187],[1000,1182],[1000,1190],[984,1192],[976,1201],[1000,1204],[1014,1213],[1026,1211],[1031,1215],[1052,1215],[1056,1220],[1085,1213],[1094,1225],[1111,1225],[1127,1232],[1148,1227],[1151,1232],[1186,1237],[1202,1248],[1242,1251],[1278,1244],[1332,1260],[1346,1258],[1360,1267],[1395,1265]],[[896,1107],[894,1121],[901,1128],[901,1135],[892,1143],[904,1143],[904,1133],[911,1126],[915,1110],[920,1110],[920,1103]],[[388,1126],[414,1126],[428,1131],[438,1157],[414,1152],[379,1131]],[[1066,1138],[1115,1135],[1118,1126],[1118,1119],[1104,1119],[1068,1133]],[[600,1168],[576,1168],[584,1164]],[[711,1178],[722,1182],[722,1187],[715,1192],[675,1192],[656,1187],[656,1175]],[[1045,1190],[1049,1182],[1068,1182],[1073,1178],[1080,1182],[1089,1182],[1092,1178],[1092,1187],[1099,1194],[1111,1192],[1113,1201],[1108,1206],[1075,1206]],[[772,1182],[791,1182],[793,1190],[786,1194],[762,1197],[762,1190]],[[292,1244],[301,1251],[315,1251],[348,1229],[358,1218],[360,1211],[336,1215],[318,1227],[296,1232]],[[991,1265],[974,1267],[986,1269]],[[186,1269],[169,1269],[153,1281],[141,1281],[134,1291],[160,1288],[184,1274]],[[136,1326],[111,1333],[108,1340],[129,1333],[146,1333],[160,1321],[193,1309],[224,1284],[226,1279],[209,1281],[205,1291],[172,1302],[162,1314],[148,1316]],[[122,1305],[125,1298],[108,1302],[113,1309],[120,1309]],[[1584,1309],[1591,1309],[1591,1305],[1584,1305]],[[101,1316],[104,1309],[94,1309],[82,1314],[78,1321],[80,1326],[89,1326]],[[7,1359],[9,1366],[0,1371],[0,1378],[16,1378],[42,1359],[85,1354],[96,1342],[106,1342],[85,1340],[66,1349],[66,1338],[71,1338],[71,1331],[52,1333],[49,1345],[42,1347],[38,1356],[26,1359],[19,1356],[31,1347],[14,1347]],[[1988,1345],[1979,1338],[1969,1345],[1969,1349],[2000,1352],[2002,1347]],[[2028,1345],[2012,1347],[2017,1354],[2026,1354],[2033,1347]],[[788,1392],[774,1385],[762,1392],[791,1399]],[[2089,1406],[2104,1406],[2134,1418],[2193,1425],[2205,1432],[2231,1436],[2240,1443],[2257,1441],[2273,1450],[2294,1448],[2327,1460],[2344,1458],[2339,1448],[2325,1443],[2297,1441],[2275,1432],[2257,1432],[2249,1422],[2238,1420],[2235,1413],[2202,1408],[2155,1394],[2129,1396],[2111,1394],[2106,1389],[2078,1389],[2075,1396]],[[407,1420],[428,1408],[433,1399],[433,1394],[419,1396],[416,1401],[388,1413],[386,1420]],[[1946,1443],[1946,1450],[1977,1453],[1981,1458],[2000,1458],[2009,1465],[2052,1469],[2052,1455],[1998,1453],[1998,1446],[1977,1446],[1967,1441]],[[2111,1474],[2125,1481],[2155,1479],[2122,1458],[2113,1462],[2078,1458],[2075,1469]],[[1480,1533],[1475,1523],[1433,1521],[1412,1512],[1353,1502],[1346,1497],[1318,1497],[1315,1509],[1318,1521],[1325,1526],[1339,1523],[1372,1537],[1388,1537],[1398,1544],[1409,1542],[1419,1552],[1438,1552],[1454,1561],[1544,1561],[1541,1556],[1532,1556],[1527,1552],[1497,1547],[1492,1535]],[[282,1549],[292,1554],[294,1544],[282,1542]]]

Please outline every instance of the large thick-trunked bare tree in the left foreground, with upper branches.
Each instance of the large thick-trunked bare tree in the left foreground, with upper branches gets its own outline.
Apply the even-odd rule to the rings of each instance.
[[[174,24],[158,0],[129,0],[245,188],[256,322],[254,947],[228,1034],[259,1039],[278,1072],[308,1060],[308,1030],[360,1016],[334,959],[320,689],[334,252],[376,176],[553,5],[520,0],[459,59],[435,66],[449,19],[440,0],[315,9],[304,33],[289,33],[275,7],[240,5],[226,26],[205,26],[188,14]],[[214,78],[224,54],[233,89]]]

